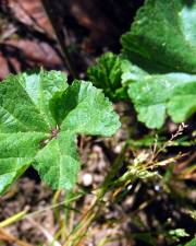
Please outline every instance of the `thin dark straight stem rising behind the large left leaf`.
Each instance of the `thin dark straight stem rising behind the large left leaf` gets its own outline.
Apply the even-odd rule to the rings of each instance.
[[[61,48],[63,61],[68,66],[73,78],[78,79],[78,74],[75,70],[75,67],[73,66],[68,47],[65,46],[64,38],[62,35],[62,28],[58,23],[57,13],[54,13],[54,10],[52,8],[52,1],[51,0],[41,0],[41,2],[42,2],[42,7],[48,15],[48,19],[51,23],[51,26],[53,28],[53,33],[56,34],[57,42]]]

